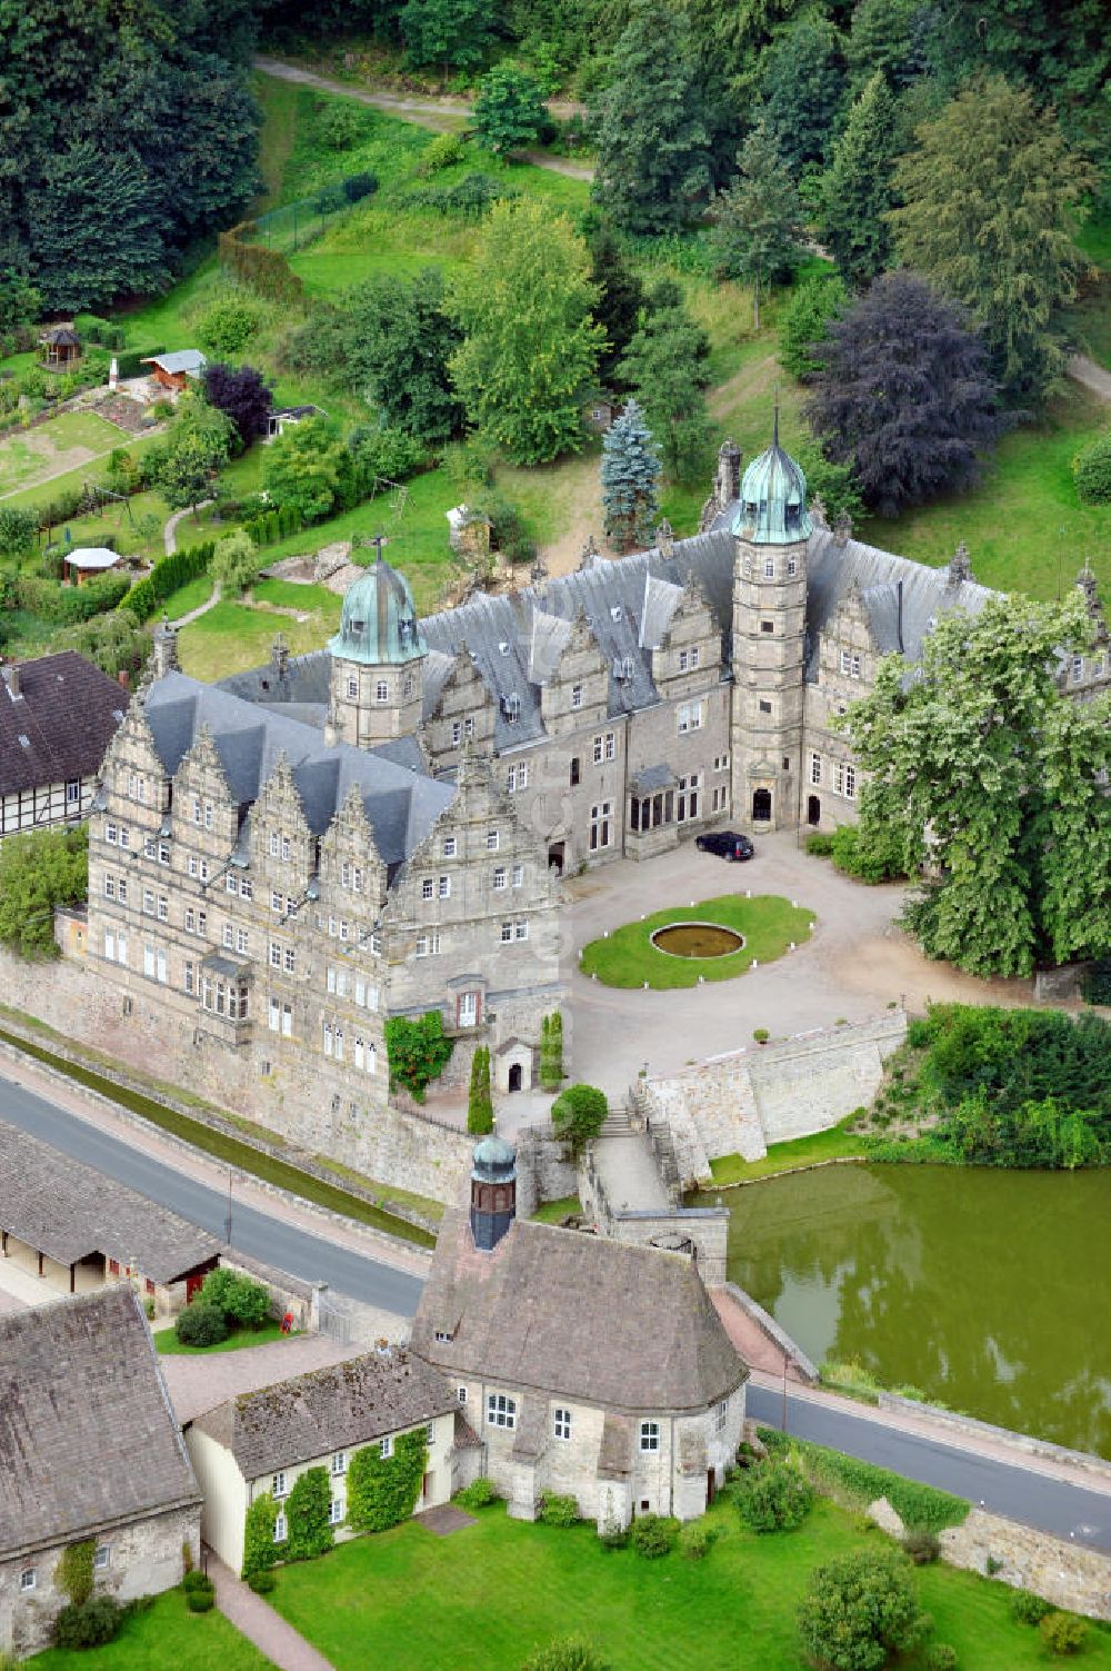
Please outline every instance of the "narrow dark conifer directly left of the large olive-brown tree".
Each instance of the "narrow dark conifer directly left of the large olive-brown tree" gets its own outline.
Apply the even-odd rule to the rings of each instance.
[[[845,284],[870,284],[890,257],[895,100],[877,70],[855,100],[822,177],[822,239]]]

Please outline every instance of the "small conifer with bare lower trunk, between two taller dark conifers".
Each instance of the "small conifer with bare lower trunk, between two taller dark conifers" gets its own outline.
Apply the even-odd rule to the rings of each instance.
[[[713,199],[712,246],[725,272],[752,286],[752,323],[758,331],[765,286],[800,254],[802,206],[763,122],[737,152],[737,179]]]

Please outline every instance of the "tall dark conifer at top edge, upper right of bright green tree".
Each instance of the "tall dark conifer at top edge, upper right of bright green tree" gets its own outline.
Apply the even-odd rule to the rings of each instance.
[[[675,232],[710,190],[708,134],[690,22],[640,0],[613,48],[596,112],[593,194],[625,232]]]

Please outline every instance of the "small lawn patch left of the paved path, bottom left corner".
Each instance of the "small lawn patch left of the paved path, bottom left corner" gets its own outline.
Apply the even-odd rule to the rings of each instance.
[[[132,1613],[107,1648],[50,1648],[27,1661],[33,1671],[276,1671],[274,1664],[229,1624],[222,1613],[189,1613],[180,1589]]]

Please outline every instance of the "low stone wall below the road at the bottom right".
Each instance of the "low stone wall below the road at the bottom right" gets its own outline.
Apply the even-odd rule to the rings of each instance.
[[[1111,1619],[1111,1556],[972,1509],[941,1534],[942,1561],[1029,1589],[1066,1613]],[[991,1561],[991,1574],[987,1562]]]

